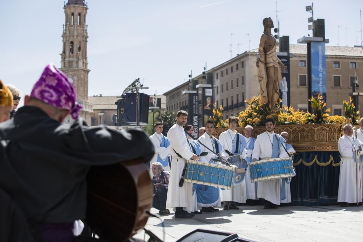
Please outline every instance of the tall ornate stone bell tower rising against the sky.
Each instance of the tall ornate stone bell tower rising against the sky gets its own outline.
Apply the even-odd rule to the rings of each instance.
[[[91,124],[92,104],[88,101],[87,69],[87,5],[84,0],[68,0],[64,5],[65,25],[63,25],[63,51],[61,68],[73,82],[77,102],[83,106],[80,116]]]

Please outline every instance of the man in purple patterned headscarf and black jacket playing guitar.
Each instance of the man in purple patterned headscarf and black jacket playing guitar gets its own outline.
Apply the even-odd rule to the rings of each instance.
[[[141,131],[85,126],[73,84],[52,64],[24,103],[0,124],[0,188],[44,242],[73,241],[74,221],[86,217],[89,168],[137,158],[146,163],[154,145]],[[72,126],[62,123],[69,114],[78,119]]]

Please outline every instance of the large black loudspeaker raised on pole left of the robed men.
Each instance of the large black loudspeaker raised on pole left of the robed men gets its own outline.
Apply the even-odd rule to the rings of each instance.
[[[136,93],[126,93],[123,97],[115,103],[117,104],[117,123],[115,126],[136,125]],[[149,98],[149,95],[140,93],[140,125],[148,123]]]

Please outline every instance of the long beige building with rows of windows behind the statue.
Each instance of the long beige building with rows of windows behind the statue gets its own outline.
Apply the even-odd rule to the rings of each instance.
[[[214,102],[224,107],[223,119],[245,110],[245,99],[251,99],[260,92],[257,78],[256,57],[258,49],[248,50],[207,72],[213,72]],[[361,47],[326,46],[327,107],[332,115],[343,114],[343,100],[349,99],[352,87],[350,81],[363,77],[363,49]],[[290,45],[290,104],[295,110],[307,110],[307,49],[306,45]],[[193,78],[206,84],[202,75]],[[167,111],[187,110],[189,82],[184,82],[166,95]],[[356,91],[360,91],[362,87]],[[199,90],[201,91],[201,90]],[[363,92],[363,91],[362,91]],[[201,95],[199,95],[201,100]],[[363,97],[359,100],[363,105]],[[201,104],[199,105],[201,113]],[[201,119],[200,119],[201,122]],[[200,124],[201,126],[201,124]]]

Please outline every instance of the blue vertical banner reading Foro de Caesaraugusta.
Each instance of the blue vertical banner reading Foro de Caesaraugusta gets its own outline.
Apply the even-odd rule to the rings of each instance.
[[[326,102],[325,42],[311,41],[311,95]],[[311,97],[309,97],[311,98]]]

